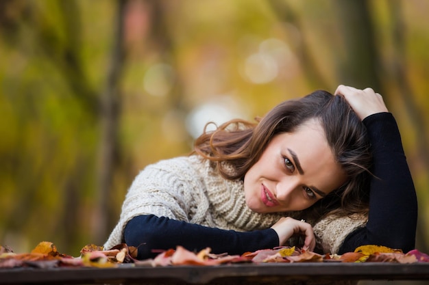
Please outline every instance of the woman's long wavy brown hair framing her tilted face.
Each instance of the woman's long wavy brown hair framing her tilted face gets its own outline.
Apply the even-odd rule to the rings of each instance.
[[[328,213],[367,213],[371,167],[369,140],[365,126],[343,96],[318,90],[280,103],[255,123],[225,122],[215,131],[204,130],[195,140],[194,152],[215,163],[224,178],[243,180],[275,135],[293,133],[313,118],[321,122],[334,159],[347,175],[347,182],[306,209],[305,216],[319,219]]]

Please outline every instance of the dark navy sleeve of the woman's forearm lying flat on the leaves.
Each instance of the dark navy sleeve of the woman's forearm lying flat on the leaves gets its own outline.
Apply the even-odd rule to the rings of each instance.
[[[128,221],[124,230],[127,245],[138,247],[138,259],[154,258],[177,245],[198,252],[210,247],[214,254],[243,254],[279,245],[275,230],[236,232],[186,223],[167,217],[140,215]]]

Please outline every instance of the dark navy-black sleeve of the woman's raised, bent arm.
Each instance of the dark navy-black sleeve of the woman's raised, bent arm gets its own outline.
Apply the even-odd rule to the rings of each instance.
[[[352,232],[339,250],[354,252],[360,245],[384,245],[408,252],[415,247],[417,197],[402,148],[400,132],[391,113],[363,120],[373,152],[374,176],[369,192],[365,228]]]

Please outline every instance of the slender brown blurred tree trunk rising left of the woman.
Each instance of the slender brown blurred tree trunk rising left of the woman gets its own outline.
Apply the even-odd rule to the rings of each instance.
[[[114,27],[114,42],[108,68],[106,86],[100,98],[100,144],[97,193],[93,217],[93,242],[101,245],[108,235],[108,196],[112,190],[115,155],[118,152],[118,118],[121,106],[119,80],[123,71],[125,52],[123,48],[123,27],[127,0],[119,0]]]

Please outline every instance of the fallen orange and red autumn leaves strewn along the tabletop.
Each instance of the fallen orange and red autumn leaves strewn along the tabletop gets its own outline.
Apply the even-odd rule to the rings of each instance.
[[[0,269],[14,267],[119,267],[129,263],[134,266],[164,267],[173,265],[213,266],[225,263],[244,262],[396,262],[415,263],[429,262],[427,254],[414,249],[404,254],[399,249],[378,245],[364,245],[354,252],[342,255],[320,255],[295,247],[276,247],[247,252],[242,255],[212,254],[210,248],[200,252],[190,252],[177,246],[156,256],[154,259],[137,260],[136,247],[125,243],[105,250],[97,245],[86,245],[80,256],[73,257],[60,254],[53,243],[39,243],[29,254],[15,254],[12,249],[0,246]]]

